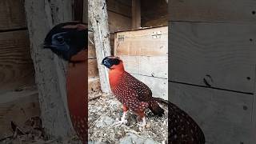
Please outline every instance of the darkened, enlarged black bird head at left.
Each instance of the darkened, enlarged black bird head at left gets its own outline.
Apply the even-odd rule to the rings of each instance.
[[[65,22],[54,26],[46,35],[44,48],[70,61],[72,56],[87,47],[88,30],[80,22]]]

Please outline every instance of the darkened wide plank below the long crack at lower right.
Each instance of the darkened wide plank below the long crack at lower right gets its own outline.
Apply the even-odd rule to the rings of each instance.
[[[206,143],[251,143],[253,95],[169,82],[170,102],[202,128]]]

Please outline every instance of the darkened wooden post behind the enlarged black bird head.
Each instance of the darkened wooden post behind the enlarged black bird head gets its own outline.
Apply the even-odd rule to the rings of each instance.
[[[72,20],[72,0],[25,0],[25,8],[42,125],[47,138],[65,138],[74,134],[66,102],[67,63],[43,49],[42,42],[50,28]]]

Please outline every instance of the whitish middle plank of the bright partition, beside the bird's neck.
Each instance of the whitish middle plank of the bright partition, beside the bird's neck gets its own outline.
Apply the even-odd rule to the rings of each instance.
[[[168,78],[168,57],[116,55],[122,59],[126,71],[156,78]]]

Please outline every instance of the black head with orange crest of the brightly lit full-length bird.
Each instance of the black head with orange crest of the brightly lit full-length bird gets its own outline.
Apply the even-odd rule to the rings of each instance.
[[[118,57],[109,56],[102,60],[102,65],[113,70],[122,66],[122,60]]]

